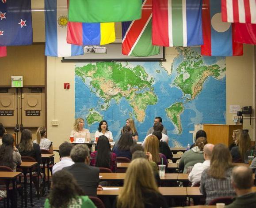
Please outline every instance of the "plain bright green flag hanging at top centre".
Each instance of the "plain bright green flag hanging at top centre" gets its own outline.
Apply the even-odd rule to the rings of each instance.
[[[69,0],[70,22],[122,22],[141,18],[141,0]]]

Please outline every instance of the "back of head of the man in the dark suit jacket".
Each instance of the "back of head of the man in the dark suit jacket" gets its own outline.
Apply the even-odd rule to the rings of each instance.
[[[84,163],[89,157],[89,148],[87,145],[75,145],[70,152],[70,157],[75,163]]]

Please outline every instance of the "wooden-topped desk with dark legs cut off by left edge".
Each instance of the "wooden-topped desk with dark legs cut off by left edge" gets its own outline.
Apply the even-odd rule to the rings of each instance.
[[[16,188],[16,178],[18,176],[20,176],[22,174],[22,172],[4,172],[4,171],[0,171],[0,179],[4,179],[4,180],[8,180],[12,182],[12,189],[14,192],[14,197],[13,197],[13,203],[15,207],[18,207],[17,204],[17,188]],[[9,192],[9,183],[6,184],[6,190],[7,193]],[[9,207],[9,200],[10,197],[7,196],[7,207]]]

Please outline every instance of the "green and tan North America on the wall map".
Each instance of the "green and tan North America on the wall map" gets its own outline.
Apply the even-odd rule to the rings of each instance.
[[[225,67],[221,68],[217,63],[206,65],[203,63],[202,56],[191,48],[176,48],[180,55],[183,56],[183,61],[177,67],[177,76],[174,80],[175,86],[179,87],[184,96],[190,95],[188,100],[195,97],[202,91],[203,84],[209,76],[218,79],[225,74]]]

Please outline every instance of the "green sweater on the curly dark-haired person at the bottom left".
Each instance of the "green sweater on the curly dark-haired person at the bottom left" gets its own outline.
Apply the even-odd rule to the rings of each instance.
[[[51,208],[49,200],[45,201],[45,208]],[[67,208],[96,208],[93,202],[89,199],[88,196],[79,196],[77,199],[73,199]]]

